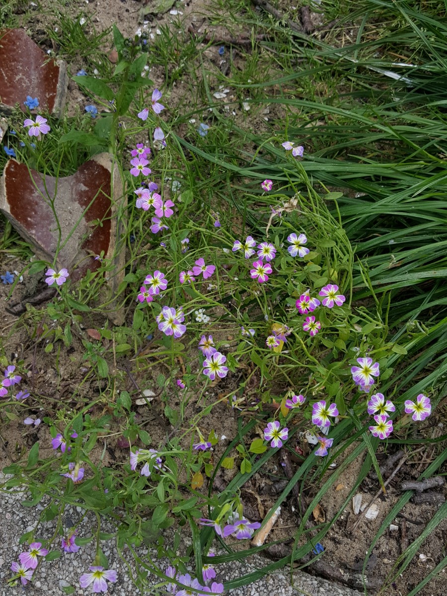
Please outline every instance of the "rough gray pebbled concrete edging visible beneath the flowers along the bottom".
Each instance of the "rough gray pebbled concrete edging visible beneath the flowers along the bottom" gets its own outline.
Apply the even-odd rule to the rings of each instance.
[[[0,483],[5,477],[0,473]],[[64,553],[61,558],[55,561],[42,561],[39,565],[36,574],[36,581],[28,584],[26,592],[21,584],[15,588],[10,588],[7,585],[7,580],[13,575],[10,570],[11,561],[18,561],[18,555],[23,549],[18,544],[18,539],[24,532],[32,530],[38,521],[39,513],[44,508],[42,504],[36,507],[28,508],[21,505],[24,495],[21,492],[3,493],[0,499],[0,519],[1,519],[1,535],[0,541],[0,579],[1,579],[1,596],[18,596],[24,593],[33,594],[36,596],[55,595],[60,596],[64,594],[61,588],[63,586],[73,586],[75,592],[73,594],[83,595],[91,594],[91,587],[82,589],[79,586],[79,578],[82,573],[88,572],[88,567],[93,563],[95,557],[95,544],[91,542],[85,547],[81,547],[77,553]],[[44,501],[42,501],[44,502]],[[40,510],[40,511],[39,511]],[[77,522],[83,514],[80,507],[67,507],[65,511],[66,516],[69,516],[73,522]],[[54,533],[56,520],[47,522],[41,526],[38,536],[41,538],[49,538]],[[91,536],[96,527],[95,516],[87,515],[82,523],[80,523],[78,530],[79,536]],[[103,532],[113,532],[113,527],[105,522],[101,526]],[[169,542],[172,537],[172,532],[167,532],[166,541]],[[191,544],[191,539],[185,536],[183,544],[179,550],[184,552],[185,547]],[[119,557],[114,541],[103,541],[101,547],[105,556],[108,558],[109,568],[115,569],[118,575],[116,583],[109,583],[109,592],[113,596],[125,596],[126,594],[137,595],[141,592],[135,588],[132,583],[129,570],[126,563]],[[55,544],[53,548],[60,548],[59,544]],[[149,555],[154,561],[157,561],[157,554],[155,550],[147,550],[147,548],[138,548],[138,554],[144,559]],[[129,553],[129,550],[123,552],[132,573],[135,573],[135,563]],[[160,561],[157,561],[160,564]],[[168,564],[163,561],[162,565]],[[260,557],[250,557],[250,560],[234,561],[232,563],[219,566],[216,571],[219,572],[218,581],[229,581],[250,573],[258,567],[263,567],[266,564],[265,559]],[[148,578],[151,585],[156,585],[158,582],[154,576]],[[244,586],[243,588],[236,588],[228,592],[229,596],[292,596],[296,594],[305,594],[307,596],[361,596],[361,593],[349,588],[344,588],[340,585],[334,585],[323,579],[314,578],[307,573],[294,573],[294,587],[291,586],[290,575],[287,570],[281,573],[268,575],[265,578]],[[166,592],[149,589],[145,594],[166,594]]]

